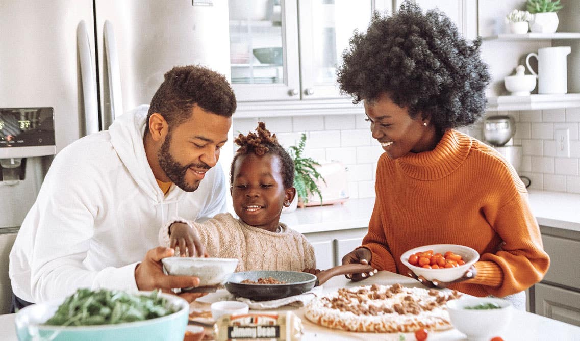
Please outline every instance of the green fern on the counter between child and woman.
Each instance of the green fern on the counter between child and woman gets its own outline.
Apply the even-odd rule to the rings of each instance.
[[[306,134],[302,133],[300,136],[300,142],[298,146],[291,146],[289,147],[288,153],[292,157],[294,161],[294,187],[296,187],[296,194],[299,199],[299,206],[303,207],[303,204],[308,202],[308,196],[310,194],[317,194],[318,198],[320,198],[320,202],[322,203],[322,193],[320,192],[320,188],[316,184],[317,180],[324,181],[324,178],[318,170],[316,170],[315,166],[319,166],[320,164],[312,158],[304,157],[304,148],[306,146]],[[300,201],[302,204],[300,204]]]

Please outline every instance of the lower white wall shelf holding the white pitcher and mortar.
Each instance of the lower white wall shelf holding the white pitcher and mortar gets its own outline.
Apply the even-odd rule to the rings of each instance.
[[[543,110],[580,107],[580,93],[487,97],[487,110]]]

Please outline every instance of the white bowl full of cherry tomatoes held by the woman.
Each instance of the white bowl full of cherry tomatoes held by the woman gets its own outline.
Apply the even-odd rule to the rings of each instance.
[[[410,249],[401,255],[401,262],[416,275],[426,280],[452,282],[462,277],[479,253],[472,248],[456,244],[433,244]]]

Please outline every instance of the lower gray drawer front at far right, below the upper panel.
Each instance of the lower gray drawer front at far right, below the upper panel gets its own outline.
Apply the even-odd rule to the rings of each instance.
[[[536,314],[580,327],[580,292],[536,284],[535,309]]]

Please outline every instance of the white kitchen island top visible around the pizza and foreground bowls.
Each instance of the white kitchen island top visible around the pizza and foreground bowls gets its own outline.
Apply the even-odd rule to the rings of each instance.
[[[334,277],[322,286],[322,292],[335,291],[338,288],[348,288],[358,285],[392,285],[400,283],[404,286],[420,286],[420,284],[411,278],[402,275],[389,273],[387,271],[379,271],[374,277],[368,278],[361,282],[351,282],[344,276]],[[219,295],[216,295],[219,296]],[[205,300],[204,300],[205,301]],[[210,300],[211,301],[211,300]],[[196,309],[202,308],[209,310],[209,303],[194,302],[192,307]],[[303,341],[310,340],[400,340],[401,335],[404,335],[405,340],[415,340],[412,333],[353,333],[344,332],[325,327],[320,327],[316,324],[306,320],[303,314],[303,308],[296,307],[281,307],[280,311],[292,310],[301,319],[305,328],[305,335]],[[525,311],[513,311],[512,320],[505,331],[499,332],[497,336],[501,336],[505,341],[515,340],[580,340],[580,327],[575,327],[571,324],[552,320],[550,318],[542,317],[540,315],[526,313]],[[14,329],[14,314],[0,315],[0,340],[16,341],[16,333]],[[146,338],[144,338],[146,340]],[[467,340],[466,336],[455,329],[450,329],[443,332],[430,332],[430,341],[436,340]]]

